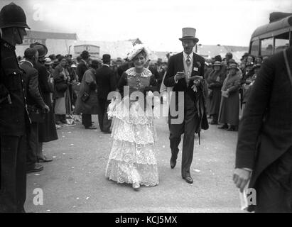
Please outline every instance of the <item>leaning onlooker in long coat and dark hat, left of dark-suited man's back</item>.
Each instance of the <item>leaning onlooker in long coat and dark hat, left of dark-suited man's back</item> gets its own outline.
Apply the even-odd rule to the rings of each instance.
[[[99,114],[99,102],[97,99],[96,70],[99,67],[97,60],[92,60],[90,69],[85,71],[77,95],[75,113],[82,114],[82,123],[86,129],[96,129],[92,126],[92,114]]]

